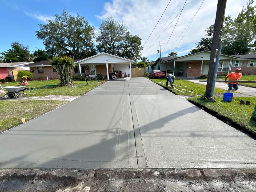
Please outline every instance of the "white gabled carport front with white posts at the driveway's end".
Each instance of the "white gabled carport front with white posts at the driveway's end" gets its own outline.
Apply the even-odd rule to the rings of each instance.
[[[81,65],[83,66],[92,66],[95,68],[95,75],[97,74],[97,71],[99,73],[99,70],[102,73],[106,73],[107,80],[109,80],[109,73],[112,73],[112,70],[119,70],[122,72],[125,72],[128,76],[130,74],[131,79],[131,63],[135,63],[135,61],[123,57],[118,57],[115,55],[111,55],[109,53],[99,53],[97,55],[93,55],[91,57],[88,57],[86,59],[82,59],[80,61],[74,62],[75,65],[78,65],[79,67],[79,73],[82,74]],[[105,67],[106,66],[106,67]],[[111,69],[109,67],[111,66]],[[91,70],[90,70],[91,71]]]

